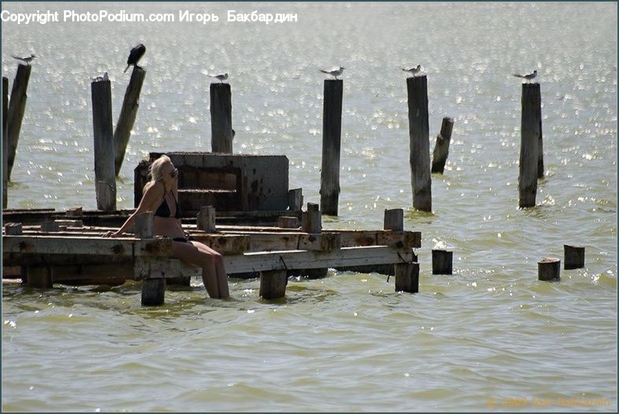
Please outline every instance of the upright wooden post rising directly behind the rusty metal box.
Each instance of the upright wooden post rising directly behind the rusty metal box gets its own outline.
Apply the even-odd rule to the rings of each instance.
[[[214,153],[232,153],[232,93],[229,83],[210,84],[210,147]]]

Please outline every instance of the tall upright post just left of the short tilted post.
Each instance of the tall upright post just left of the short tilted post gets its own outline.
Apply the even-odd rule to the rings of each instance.
[[[409,95],[409,137],[413,208],[432,211],[428,80],[425,75],[406,79]]]

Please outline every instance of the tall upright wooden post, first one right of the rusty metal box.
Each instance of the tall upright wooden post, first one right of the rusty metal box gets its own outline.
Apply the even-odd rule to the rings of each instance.
[[[342,141],[341,79],[325,80],[323,101],[323,162],[321,168],[321,208],[325,215],[338,215],[340,198],[340,147]]]

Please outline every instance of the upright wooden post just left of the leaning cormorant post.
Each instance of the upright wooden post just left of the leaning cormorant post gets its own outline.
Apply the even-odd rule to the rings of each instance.
[[[94,80],[91,94],[97,209],[113,211],[116,210],[116,175],[109,80]]]

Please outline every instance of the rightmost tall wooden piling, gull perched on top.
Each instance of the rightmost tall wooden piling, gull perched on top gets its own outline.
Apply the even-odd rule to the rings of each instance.
[[[535,206],[539,171],[541,97],[539,83],[522,84],[520,173],[518,176],[520,208]],[[543,171],[543,167],[542,167]]]

